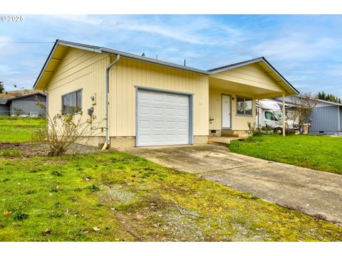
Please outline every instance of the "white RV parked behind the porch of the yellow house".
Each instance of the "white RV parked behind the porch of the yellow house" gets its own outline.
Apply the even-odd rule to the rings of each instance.
[[[259,100],[257,102],[257,120],[256,124],[259,129],[269,127],[275,133],[281,134],[283,130],[283,113],[279,105],[273,100]],[[285,118],[286,128],[298,129],[298,125],[294,124],[288,118]]]

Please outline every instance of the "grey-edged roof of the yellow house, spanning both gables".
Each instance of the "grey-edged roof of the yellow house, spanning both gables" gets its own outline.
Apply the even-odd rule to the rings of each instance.
[[[271,70],[271,72],[273,72],[277,77],[279,77],[279,79],[281,79],[282,82],[284,82],[287,86],[289,86],[291,88],[291,90],[293,90],[296,94],[299,93],[298,90],[296,90],[296,88],[294,88],[289,81],[287,81],[264,57],[260,57],[260,58],[254,58],[252,60],[246,60],[246,61],[242,61],[239,63],[234,63],[234,64],[230,64],[230,65],[224,65],[222,67],[219,68],[214,68],[211,70],[199,70],[197,68],[190,68],[187,67],[185,65],[178,65],[175,63],[169,63],[166,61],[162,61],[162,60],[156,60],[154,58],[148,58],[145,56],[140,56],[140,55],[135,55],[132,53],[125,53],[123,51],[120,50],[114,50],[114,49],[110,49],[110,48],[105,48],[105,47],[100,47],[100,46],[90,46],[90,45],[86,45],[83,43],[74,43],[71,41],[63,41],[60,39],[57,39],[55,44],[53,45],[53,48],[51,49],[51,52],[48,55],[48,58],[46,59],[46,62],[43,65],[43,68],[41,69],[41,72],[38,75],[38,78],[36,79],[36,82],[33,85],[33,88],[36,88],[36,86],[38,85],[39,80],[41,79],[41,76],[43,75],[44,71],[46,70],[48,63],[50,62],[50,60],[53,58],[53,53],[55,53],[56,49],[58,46],[68,46],[68,47],[72,47],[72,48],[79,48],[82,50],[89,50],[92,51],[94,53],[109,53],[109,54],[115,54],[115,55],[120,55],[123,56],[125,58],[131,58],[134,60],[141,60],[147,63],[154,63],[157,65],[164,65],[170,68],[177,68],[177,69],[181,69],[181,70],[187,70],[187,71],[192,71],[195,73],[201,73],[204,75],[213,75],[219,72],[222,72],[224,70],[229,70],[232,68],[238,68],[241,67],[243,65],[249,65],[252,63],[264,63],[267,67],[269,67],[269,69]],[[53,60],[58,61],[57,58],[53,58]],[[60,61],[60,60],[59,60]]]

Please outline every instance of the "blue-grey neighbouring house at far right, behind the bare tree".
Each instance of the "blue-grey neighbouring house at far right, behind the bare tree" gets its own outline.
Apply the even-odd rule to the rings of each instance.
[[[295,96],[299,97],[299,96]],[[281,105],[281,99],[274,99]],[[317,104],[308,120],[311,124],[309,134],[342,135],[342,104],[326,100],[316,100]],[[293,97],[285,98],[286,112],[293,112],[292,107],[298,101]]]

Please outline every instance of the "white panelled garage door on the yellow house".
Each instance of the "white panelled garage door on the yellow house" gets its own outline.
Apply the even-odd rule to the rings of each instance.
[[[138,90],[137,146],[189,144],[189,96]]]

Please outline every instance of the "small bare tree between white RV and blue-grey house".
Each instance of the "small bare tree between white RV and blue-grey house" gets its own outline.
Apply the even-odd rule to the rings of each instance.
[[[310,115],[317,105],[316,97],[313,97],[310,92],[301,92],[299,96],[293,97],[294,114],[292,119],[299,124],[299,133],[303,134],[304,124],[309,122]]]

